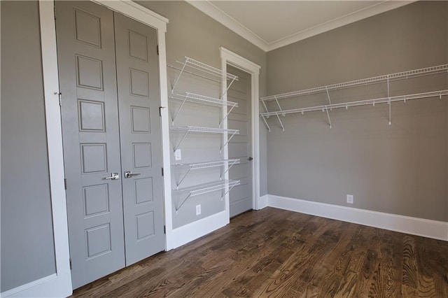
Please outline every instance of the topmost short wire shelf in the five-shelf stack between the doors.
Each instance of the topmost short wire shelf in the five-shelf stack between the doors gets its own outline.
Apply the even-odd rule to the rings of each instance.
[[[172,68],[179,69],[179,71],[180,71],[179,76],[176,78],[176,80],[175,80],[175,82],[173,84],[173,87],[172,87],[172,90],[171,90],[172,94],[174,94],[174,90],[176,88],[177,83],[179,83],[179,79],[181,78],[182,73],[186,72],[186,73],[196,74],[196,73],[194,73],[192,71],[188,71],[186,68],[195,69],[196,71],[201,71],[202,73],[207,73],[207,75],[218,77],[221,80],[223,78],[225,78],[227,80],[230,80],[230,83],[228,84],[228,88],[230,87],[230,85],[232,85],[232,83],[235,80],[238,80],[238,76],[232,75],[232,73],[225,73],[221,69],[217,69],[214,66],[210,66],[208,64],[205,64],[204,62],[197,61],[197,60],[195,60],[193,58],[190,58],[190,57],[185,57],[185,60],[183,62],[176,61],[176,63],[178,63],[178,64],[180,64],[182,66],[180,68],[176,68],[175,66],[171,66]],[[202,77],[202,78],[207,78],[205,76],[201,76],[200,74],[199,74],[199,76]],[[222,83],[222,81],[220,81],[220,83]],[[226,92],[227,92],[227,90],[226,90]]]

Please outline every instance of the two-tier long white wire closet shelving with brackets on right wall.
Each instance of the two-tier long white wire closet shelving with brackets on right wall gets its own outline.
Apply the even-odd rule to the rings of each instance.
[[[344,83],[337,83],[337,84],[333,84],[333,85],[314,87],[314,88],[298,90],[298,91],[294,91],[294,92],[286,92],[286,93],[281,93],[281,94],[276,94],[276,95],[270,95],[268,97],[260,97],[262,106],[265,108],[265,112],[260,113],[260,117],[262,118],[262,120],[265,124],[265,127],[270,132],[271,129],[267,123],[267,118],[269,118],[270,116],[276,116],[277,120],[279,120],[279,123],[281,125],[281,129],[284,131],[285,128],[283,126],[283,122],[281,121],[281,118],[279,117],[280,115],[284,117],[285,115],[292,114],[292,113],[302,113],[303,114],[305,112],[311,112],[311,111],[323,111],[323,112],[327,113],[328,125],[331,128],[332,125],[331,125],[330,113],[328,111],[331,111],[333,108],[348,109],[351,106],[365,106],[365,105],[370,105],[370,104],[372,104],[374,106],[375,104],[388,104],[389,105],[388,106],[388,109],[389,109],[388,124],[391,125],[391,123],[392,123],[391,122],[391,102],[394,102],[394,101],[406,102],[407,100],[425,99],[425,98],[430,98],[430,97],[439,97],[440,99],[442,99],[442,96],[448,95],[448,90],[437,90],[437,91],[423,92],[423,93],[418,93],[418,94],[405,94],[405,95],[398,95],[398,96],[391,97],[389,85],[392,81],[405,80],[408,78],[417,78],[420,76],[430,76],[430,75],[435,75],[435,74],[439,74],[439,73],[447,73],[447,72],[448,72],[448,64],[442,64],[442,65],[437,65],[437,66],[426,67],[423,69],[402,71],[400,73],[391,73],[391,74],[376,76],[376,77],[372,77],[372,78],[363,78],[360,80],[352,80],[352,81],[344,82]],[[361,100],[361,101],[349,101],[349,102],[338,103],[338,104],[331,103],[330,93],[329,93],[330,91],[341,90],[341,89],[349,88],[349,87],[357,87],[360,85],[376,84],[376,83],[387,83],[387,97],[376,98],[376,99],[367,99],[367,100]],[[326,93],[327,98],[328,98],[328,104],[320,105],[320,106],[309,106],[309,107],[304,107],[304,108],[293,108],[293,109],[283,110],[279,103],[279,100],[281,100],[281,99],[300,97],[300,96],[304,96],[304,95],[316,94],[316,93],[321,93],[321,92]],[[269,111],[266,106],[266,103],[265,103],[266,101],[276,101],[276,106],[277,106],[278,110],[277,111]]]

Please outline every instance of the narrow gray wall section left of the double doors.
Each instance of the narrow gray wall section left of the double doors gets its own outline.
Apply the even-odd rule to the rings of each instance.
[[[55,273],[39,36],[37,1],[1,1],[1,292]]]

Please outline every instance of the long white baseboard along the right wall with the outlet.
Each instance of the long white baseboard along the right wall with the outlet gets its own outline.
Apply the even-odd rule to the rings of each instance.
[[[267,196],[269,207],[448,241],[448,222],[279,197],[272,194]]]

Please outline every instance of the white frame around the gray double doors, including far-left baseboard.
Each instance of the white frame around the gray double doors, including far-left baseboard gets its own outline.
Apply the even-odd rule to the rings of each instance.
[[[168,106],[167,59],[165,33],[168,20],[151,10],[129,0],[91,0],[116,10],[134,20],[147,24],[158,31],[160,106]],[[1,297],[67,297],[72,293],[69,264],[69,231],[66,213],[64,187],[64,159],[62,150],[62,125],[59,108],[59,78],[57,69],[57,47],[54,1],[39,0],[41,50],[43,68],[43,91],[45,121],[48,140],[48,168],[50,171],[50,195],[52,206],[52,227],[55,241],[56,273],[31,281],[0,294]],[[169,167],[169,118],[166,108],[162,109],[162,152],[165,168],[165,221],[172,225],[171,174]]]

